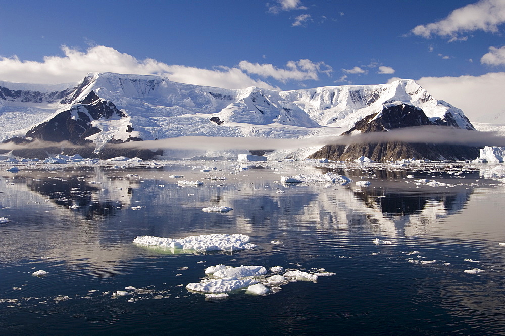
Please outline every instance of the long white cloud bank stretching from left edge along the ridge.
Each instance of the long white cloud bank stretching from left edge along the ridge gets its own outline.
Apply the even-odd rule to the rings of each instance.
[[[78,82],[89,72],[116,72],[160,75],[176,82],[223,88],[259,86],[279,89],[265,81],[251,78],[249,74],[263,78],[272,77],[285,83],[289,80],[317,80],[319,73],[329,74],[332,71],[324,62],[315,63],[310,60],[289,61],[286,69],[279,69],[271,64],[252,64],[248,61],[242,61],[235,67],[201,69],[169,65],[151,58],[139,60],[103,45],[89,47],[86,51],[63,46],[62,51],[63,56],[46,56],[42,62],[23,61],[16,56],[0,57],[0,79],[57,84]]]

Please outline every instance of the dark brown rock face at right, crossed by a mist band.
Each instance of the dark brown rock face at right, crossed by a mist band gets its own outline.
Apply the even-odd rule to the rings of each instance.
[[[375,113],[366,116],[358,121],[353,128],[341,135],[350,135],[353,131],[361,131],[362,133],[385,132],[395,128],[425,125],[458,127],[456,121],[449,113],[446,114],[443,119],[438,119],[433,122],[429,120],[423,110],[406,104],[384,108],[381,114],[382,115],[378,115]],[[356,160],[361,156],[366,156],[374,161],[409,158],[429,160],[473,160],[479,156],[479,149],[477,147],[461,145],[435,145],[433,143],[391,141],[354,145],[326,145],[309,158]]]

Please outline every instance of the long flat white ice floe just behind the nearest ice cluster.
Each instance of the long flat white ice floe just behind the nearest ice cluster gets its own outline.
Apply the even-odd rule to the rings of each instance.
[[[203,234],[183,239],[137,236],[133,243],[154,245],[180,250],[195,251],[237,251],[251,250],[256,247],[249,243],[250,237],[244,234]]]

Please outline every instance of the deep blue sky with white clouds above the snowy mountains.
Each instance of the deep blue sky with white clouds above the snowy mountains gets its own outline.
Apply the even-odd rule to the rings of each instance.
[[[225,88],[414,79],[505,124],[505,0],[0,0],[0,80],[89,72]]]

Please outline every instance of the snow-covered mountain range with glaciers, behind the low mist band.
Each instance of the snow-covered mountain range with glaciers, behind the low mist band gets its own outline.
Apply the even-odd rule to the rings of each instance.
[[[413,80],[275,91],[182,84],[160,76],[92,73],[74,85],[0,81],[0,141],[66,140],[90,145],[87,151],[67,146],[66,153],[80,151],[84,156],[105,158],[118,154],[108,147],[110,143],[188,135],[225,136],[230,142],[232,137],[309,139],[339,135],[365,117],[383,112],[385,106],[400,105],[421,109],[431,123],[474,129],[460,109],[434,99]],[[310,146],[298,155],[307,156],[319,149]],[[42,152],[37,155],[43,156]],[[171,150],[164,154],[191,157],[230,153],[223,148],[221,153]],[[136,154],[148,157],[162,153]],[[288,154],[277,150],[270,155]]]

